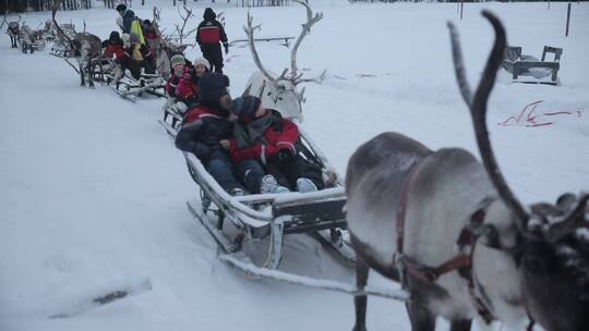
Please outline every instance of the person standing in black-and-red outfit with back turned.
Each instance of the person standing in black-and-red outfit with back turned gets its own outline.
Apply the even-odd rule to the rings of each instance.
[[[220,42],[225,47],[225,53],[229,52],[229,44],[223,24],[217,21],[217,14],[212,8],[207,8],[203,14],[203,22],[199,24],[196,42],[201,47],[203,57],[211,63],[211,71],[223,73],[223,53]]]

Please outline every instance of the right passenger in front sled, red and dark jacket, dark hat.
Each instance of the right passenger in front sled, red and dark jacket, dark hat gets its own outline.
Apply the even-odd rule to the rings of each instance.
[[[263,108],[254,96],[235,99],[231,112],[237,117],[233,138],[221,140],[231,161],[236,164],[256,161],[267,173],[261,181],[239,176],[247,187],[261,183],[253,193],[294,189],[304,193],[324,187],[322,169],[298,154],[302,144],[297,124],[283,119],[277,111]]]

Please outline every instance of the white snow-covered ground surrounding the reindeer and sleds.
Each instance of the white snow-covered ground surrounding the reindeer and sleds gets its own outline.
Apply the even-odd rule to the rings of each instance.
[[[160,2],[134,10],[151,17],[154,3],[163,7],[163,25],[171,29],[178,15]],[[324,19],[303,41],[299,65],[310,76],[324,69],[328,74],[322,85],[306,88],[304,126],[341,173],[354,149],[384,131],[401,132],[433,149],[459,146],[478,155],[450,65],[445,22],[457,23],[474,84],[492,42],[491,27],[479,14],[488,8],[524,53],[540,57],[544,45],[564,48],[561,86],[512,85],[503,73],[493,90],[490,131],[508,182],[527,203],[589,189],[589,4],[573,4],[565,37],[566,3],[553,2],[550,10],[546,3],[468,3],[462,21],[456,4],[315,3]],[[211,3],[193,5],[200,19]],[[225,12],[229,38],[243,38],[247,9],[214,8]],[[251,13],[262,24],[261,36],[297,36],[304,20],[294,3]],[[24,19],[36,26],[49,16]],[[60,12],[58,19],[76,26],[85,20],[88,32],[107,38],[116,12]],[[130,103],[105,86],[81,88],[63,60],[48,52],[23,54],[10,48],[8,37],[2,40],[0,330],[351,329],[351,297],[249,280],[217,260],[215,243],[184,207],[197,189],[157,123],[161,100]],[[268,69],[280,72],[289,65],[287,48],[262,42],[259,50]],[[190,59],[196,56],[189,51]],[[253,71],[249,49],[232,47],[226,73],[235,96]],[[495,125],[539,100],[537,123],[553,124]],[[542,115],[560,111],[570,114]],[[353,280],[352,270],[304,236],[287,242],[281,268]],[[396,286],[378,277],[372,282]],[[139,293],[82,311],[88,298],[129,286]],[[48,318],[76,311],[71,318]],[[402,304],[374,298],[368,326],[409,329]]]

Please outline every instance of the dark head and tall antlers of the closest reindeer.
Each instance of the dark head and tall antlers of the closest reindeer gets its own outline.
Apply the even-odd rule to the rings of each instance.
[[[506,37],[503,25],[488,11],[495,41],[474,96],[465,76],[456,28],[450,28],[456,77],[470,108],[481,158],[501,201],[506,208],[496,229],[491,224],[484,243],[510,255],[518,268],[524,303],[530,317],[546,330],[589,330],[589,220],[588,194],[563,195],[555,205],[536,204],[524,208],[503,177],[486,130],[486,101],[503,60]],[[503,222],[501,222],[503,221]],[[510,241],[505,230],[512,229]],[[585,233],[582,233],[585,231]],[[505,280],[509,281],[509,280]]]

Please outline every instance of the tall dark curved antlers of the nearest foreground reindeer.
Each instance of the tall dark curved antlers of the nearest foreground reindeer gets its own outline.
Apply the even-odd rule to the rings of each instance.
[[[489,95],[493,89],[495,84],[495,77],[497,70],[503,60],[503,52],[505,50],[506,37],[505,29],[501,24],[500,20],[489,11],[482,11],[482,15],[489,20],[493,29],[495,30],[495,41],[489,59],[486,60],[486,65],[484,68],[483,75],[474,93],[474,97],[470,97],[470,87],[468,81],[465,76],[465,69],[462,64],[461,53],[460,53],[460,42],[458,40],[458,33],[456,27],[452,22],[448,22],[448,28],[450,29],[450,38],[453,46],[453,59],[456,70],[456,78],[458,85],[460,86],[460,93],[465,102],[470,108],[470,113],[472,117],[472,123],[474,125],[474,133],[477,136],[477,144],[479,145],[479,150],[481,152],[481,158],[491,179],[491,182],[497,189],[498,195],[502,200],[507,205],[507,207],[514,212],[517,219],[517,226],[520,230],[520,233],[525,233],[527,223],[529,220],[528,212],[524,209],[519,200],[515,197],[505,179],[503,177],[495,156],[493,155],[493,149],[491,148],[491,143],[489,140],[489,132],[486,130],[486,101],[489,100]]]

